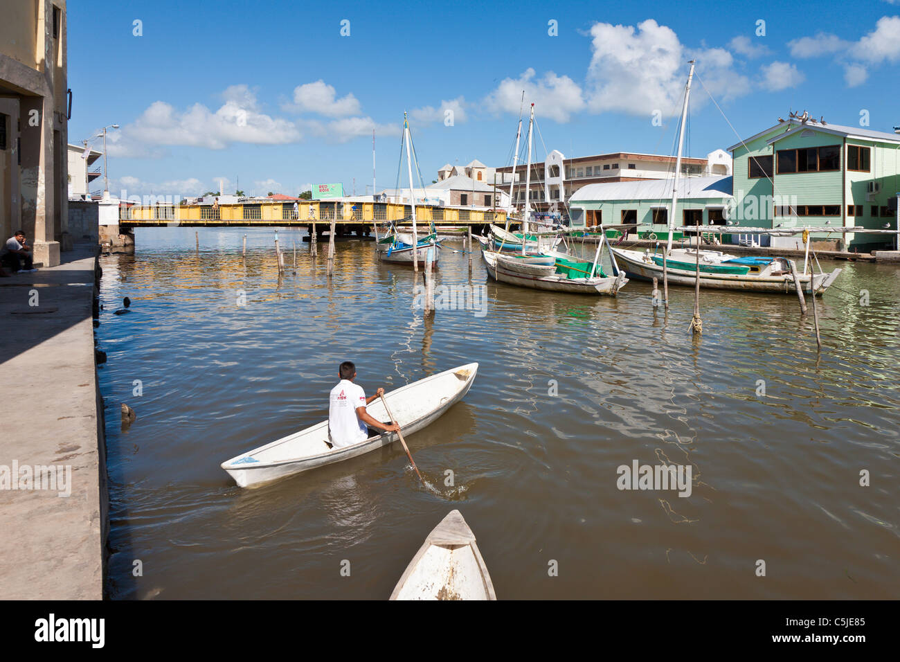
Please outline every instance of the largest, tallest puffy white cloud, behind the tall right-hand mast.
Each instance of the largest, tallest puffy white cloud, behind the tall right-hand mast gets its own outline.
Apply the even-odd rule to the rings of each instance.
[[[746,95],[752,89],[749,78],[734,69],[734,57],[728,50],[686,49],[671,28],[653,19],[638,23],[636,29],[595,23],[590,35],[589,104],[594,112],[676,113],[688,59],[698,61],[698,77],[716,100]],[[704,104],[706,98],[706,94],[693,97],[695,104]]]

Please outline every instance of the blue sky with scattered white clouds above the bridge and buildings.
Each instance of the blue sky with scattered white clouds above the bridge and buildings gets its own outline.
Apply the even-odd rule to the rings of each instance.
[[[377,186],[394,186],[404,110],[427,182],[447,162],[506,165],[524,87],[543,138],[535,160],[554,149],[668,154],[692,57],[703,86],[691,96],[691,156],[737,141],[707,89],[742,136],[791,108],[849,125],[868,111],[869,128],[891,131],[900,0],[850,6],[70,2],[69,141],[121,125],[110,136],[116,194],[197,195],[220,177],[227,192],[239,178],[257,195],[349,191],[356,177],[362,194],[373,128]]]

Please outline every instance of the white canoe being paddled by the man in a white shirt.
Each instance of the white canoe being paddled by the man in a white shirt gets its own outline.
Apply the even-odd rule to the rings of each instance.
[[[409,438],[410,434],[435,422],[462,400],[472,387],[477,372],[478,364],[469,363],[385,393],[384,397],[394,418],[400,423],[403,436]],[[327,394],[325,400],[328,400]],[[390,419],[380,399],[374,400],[366,410],[378,421]],[[248,487],[356,458],[398,439],[396,432],[387,432],[353,446],[332,449],[329,447],[329,422],[326,420],[226,460],[221,467],[234,478],[235,483]]]

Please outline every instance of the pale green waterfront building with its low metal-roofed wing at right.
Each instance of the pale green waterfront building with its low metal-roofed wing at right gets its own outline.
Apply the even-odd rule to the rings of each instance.
[[[727,225],[723,240],[759,240],[741,227],[896,230],[900,135],[791,118],[729,148],[732,177],[679,179],[673,225]],[[667,237],[672,178],[583,186],[569,202],[573,227],[631,225],[640,237]],[[842,247],[893,248],[896,235],[812,232]],[[680,239],[680,234],[675,234]],[[801,237],[763,237],[795,248]]]

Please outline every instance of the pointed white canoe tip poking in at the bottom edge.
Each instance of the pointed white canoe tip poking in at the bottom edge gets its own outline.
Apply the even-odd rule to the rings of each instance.
[[[428,534],[391,594],[392,600],[496,600],[475,535],[459,511]]]

